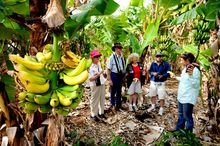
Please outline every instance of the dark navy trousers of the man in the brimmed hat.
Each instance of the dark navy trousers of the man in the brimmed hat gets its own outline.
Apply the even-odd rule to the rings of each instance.
[[[123,77],[120,74],[111,72],[111,79],[113,86],[111,86],[111,105],[112,106],[121,106],[121,88],[122,88],[122,79]]]

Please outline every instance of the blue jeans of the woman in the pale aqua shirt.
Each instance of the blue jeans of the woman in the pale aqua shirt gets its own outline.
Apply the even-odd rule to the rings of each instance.
[[[184,129],[193,131],[193,104],[178,102],[178,120],[176,123],[176,130]]]

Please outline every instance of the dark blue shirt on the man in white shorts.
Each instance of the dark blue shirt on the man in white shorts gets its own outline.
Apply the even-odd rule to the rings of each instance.
[[[170,71],[170,64],[166,61],[162,61],[160,65],[158,65],[156,62],[152,62],[149,74],[150,74],[150,80],[155,82],[164,82],[167,80],[167,78],[170,76],[167,72]],[[162,75],[162,78],[158,78],[158,76],[154,76],[153,72],[157,72],[158,75]]]

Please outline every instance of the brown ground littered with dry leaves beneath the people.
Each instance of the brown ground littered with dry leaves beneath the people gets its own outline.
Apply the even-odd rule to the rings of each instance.
[[[177,88],[178,82],[168,80],[166,83],[167,98],[165,113],[158,115],[159,105],[155,112],[147,113],[150,106],[150,98],[147,96],[149,85],[145,85],[144,105],[137,112],[128,111],[128,103],[124,102],[125,110],[112,112],[108,110],[109,92],[106,87],[106,120],[94,122],[90,119],[89,88],[85,89],[85,95],[79,107],[65,119],[66,145],[73,145],[76,139],[80,139],[86,145],[103,145],[112,140],[113,134],[119,135],[123,142],[131,146],[151,145],[158,139],[163,131],[175,128],[177,121]],[[204,145],[219,145],[220,136],[213,135],[212,120],[208,119],[205,99],[198,99],[194,107],[194,133],[201,139]]]

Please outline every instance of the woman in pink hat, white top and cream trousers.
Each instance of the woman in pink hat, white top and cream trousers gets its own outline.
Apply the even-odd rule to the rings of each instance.
[[[105,78],[103,76],[103,70],[99,58],[102,55],[98,50],[93,50],[90,53],[92,59],[92,65],[89,67],[89,84],[91,87],[91,99],[90,99],[90,109],[91,109],[91,119],[94,121],[99,121],[99,118],[106,119],[104,115],[104,105],[105,105]],[[99,118],[98,118],[98,117]]]

